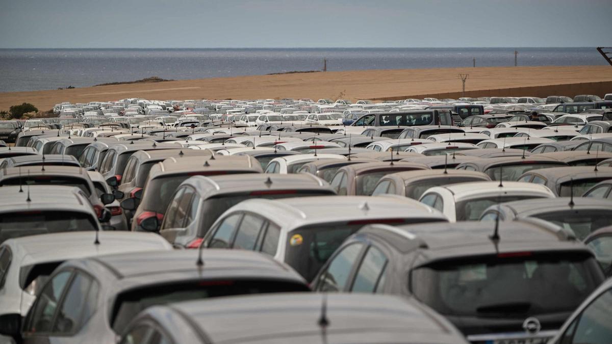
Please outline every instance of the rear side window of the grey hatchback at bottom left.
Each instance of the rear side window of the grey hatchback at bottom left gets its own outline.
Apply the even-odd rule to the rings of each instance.
[[[91,312],[91,308],[83,308],[88,298],[91,284],[92,280],[89,277],[76,272],[66,296],[64,297],[64,301],[59,307],[53,332],[72,333],[80,328],[80,325],[85,320],[83,318],[83,310],[89,310]]]

